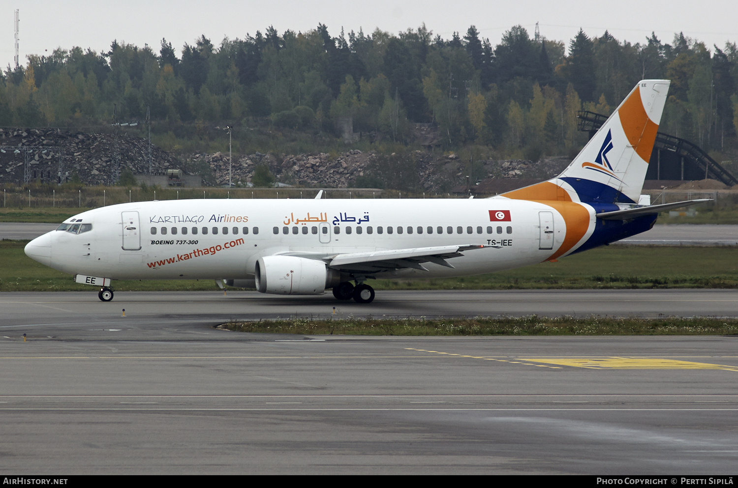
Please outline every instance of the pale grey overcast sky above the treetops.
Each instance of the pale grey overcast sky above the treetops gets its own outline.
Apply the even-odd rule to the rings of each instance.
[[[204,34],[215,46],[228,38],[244,38],[273,25],[280,35],[291,29],[306,32],[325,24],[339,35],[362,28],[379,28],[397,34],[425,23],[433,35],[451,38],[475,25],[481,38],[499,43],[503,33],[520,24],[531,37],[536,22],[541,35],[568,42],[579,27],[591,37],[609,30],[619,41],[643,42],[652,31],[664,43],[675,32],[720,48],[738,41],[738,1],[403,1],[350,0],[266,1],[161,1],[128,0],[108,4],[99,0],[0,1],[0,66],[13,63],[15,37],[13,11],[20,10],[19,53],[21,64],[29,54],[51,54],[57,47],[107,51],[111,42],[144,46],[159,52],[162,38],[171,42],[178,55],[184,43],[193,44]]]

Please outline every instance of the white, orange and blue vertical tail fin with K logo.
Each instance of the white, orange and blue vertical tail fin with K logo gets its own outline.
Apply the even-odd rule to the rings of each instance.
[[[646,179],[669,83],[669,80],[638,82],[558,178],[503,196],[637,203]]]

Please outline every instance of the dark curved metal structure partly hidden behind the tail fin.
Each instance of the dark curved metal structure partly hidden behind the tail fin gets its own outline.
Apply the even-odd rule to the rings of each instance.
[[[590,139],[607,120],[606,115],[590,111],[576,113],[579,130],[590,133]],[[649,161],[646,180],[701,180],[712,178],[730,187],[738,179],[720,166],[697,144],[680,137],[656,133],[656,142]]]

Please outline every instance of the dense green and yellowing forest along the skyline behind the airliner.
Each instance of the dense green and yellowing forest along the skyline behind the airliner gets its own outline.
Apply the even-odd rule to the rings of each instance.
[[[337,121],[351,117],[372,141],[413,144],[413,128],[430,124],[441,150],[536,160],[581,147],[576,112],[609,114],[642,78],[672,80],[661,130],[714,153],[738,147],[735,43],[710,48],[677,34],[631,44],[580,29],[566,45],[520,26],[497,46],[474,26],[446,40],[425,26],[331,36],[320,24],[219,46],[202,35],[179,55],[165,39],[158,53],[117,41],[102,53],[59,48],[1,74],[0,126],[89,130],[145,122],[148,112],[160,140],[178,127],[226,125],[335,140]]]

